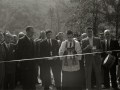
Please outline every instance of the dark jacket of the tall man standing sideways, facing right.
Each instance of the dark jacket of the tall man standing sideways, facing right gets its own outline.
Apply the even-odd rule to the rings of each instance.
[[[25,35],[18,41],[18,59],[31,59],[35,58],[35,42],[30,41],[28,37]],[[34,71],[35,69],[35,60],[27,60],[27,61],[21,61],[20,65],[23,70],[32,70]]]

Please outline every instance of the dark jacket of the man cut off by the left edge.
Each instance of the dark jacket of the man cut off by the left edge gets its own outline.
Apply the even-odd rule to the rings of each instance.
[[[5,51],[3,51],[2,48],[4,48],[4,47],[2,44],[0,44],[0,62],[4,61],[5,57],[6,57]],[[5,65],[4,65],[4,63],[0,63],[0,77],[3,78],[4,76],[5,76]]]

